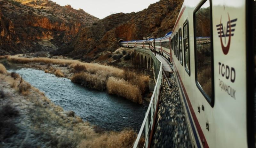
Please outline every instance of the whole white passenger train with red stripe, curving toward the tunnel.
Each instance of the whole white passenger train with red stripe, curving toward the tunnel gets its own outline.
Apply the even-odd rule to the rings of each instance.
[[[121,42],[171,61],[193,147],[255,147],[254,1],[185,0],[164,37]]]

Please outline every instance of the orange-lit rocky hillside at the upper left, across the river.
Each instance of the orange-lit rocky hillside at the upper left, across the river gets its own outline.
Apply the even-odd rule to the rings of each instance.
[[[58,49],[98,20],[48,0],[0,0],[0,55]]]

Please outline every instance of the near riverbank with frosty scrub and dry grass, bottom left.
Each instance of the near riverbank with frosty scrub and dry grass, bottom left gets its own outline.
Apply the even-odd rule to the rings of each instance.
[[[132,147],[136,139],[129,129],[93,129],[1,64],[0,80],[0,147]]]

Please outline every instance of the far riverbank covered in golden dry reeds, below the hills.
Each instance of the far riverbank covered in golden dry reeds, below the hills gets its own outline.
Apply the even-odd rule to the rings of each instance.
[[[142,96],[148,92],[149,77],[138,75],[131,71],[122,70],[112,66],[100,65],[96,63],[83,63],[73,59],[60,58],[30,58],[24,55],[15,55],[7,58],[14,63],[22,63],[27,67],[42,69],[47,73],[52,73],[60,77],[67,77],[72,82],[79,83],[85,87],[95,90],[108,90],[108,93],[125,97],[135,103],[142,104]],[[124,82],[122,89],[109,90],[108,81],[113,77],[115,82]],[[132,86],[132,87],[131,87]],[[133,93],[127,94],[127,90]],[[136,94],[135,94],[136,93]]]

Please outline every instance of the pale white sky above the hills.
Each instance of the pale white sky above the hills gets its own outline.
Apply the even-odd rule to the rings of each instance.
[[[103,19],[114,13],[138,12],[148,8],[150,4],[159,0],[52,0],[61,6],[67,4],[74,9],[83,9],[85,12]]]

